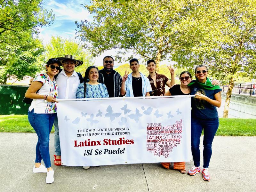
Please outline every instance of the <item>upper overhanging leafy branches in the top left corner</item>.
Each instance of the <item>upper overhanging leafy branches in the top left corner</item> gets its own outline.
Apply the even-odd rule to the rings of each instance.
[[[42,0],[2,0],[0,2],[0,48],[27,48],[38,28],[49,26],[54,15],[42,7]]]

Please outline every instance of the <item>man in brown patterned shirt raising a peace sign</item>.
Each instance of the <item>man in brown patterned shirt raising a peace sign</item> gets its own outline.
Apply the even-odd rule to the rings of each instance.
[[[149,72],[148,79],[152,88],[152,92],[150,92],[150,96],[164,96],[165,93],[165,85],[171,87],[175,84],[174,79],[174,68],[170,65],[167,66],[171,73],[171,81],[165,76],[156,73],[156,62],[151,59],[147,61],[147,69]]]

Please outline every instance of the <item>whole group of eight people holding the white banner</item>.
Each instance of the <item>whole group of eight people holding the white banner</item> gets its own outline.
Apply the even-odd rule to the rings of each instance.
[[[83,64],[72,55],[49,59],[46,64],[46,72],[37,75],[31,80],[25,97],[33,99],[28,110],[28,120],[36,131],[38,141],[36,145],[36,160],[33,172],[46,172],[46,183],[54,181],[54,171],[51,167],[49,153],[49,134],[54,124],[54,164],[61,165],[61,151],[59,127],[57,119],[57,99],[76,98],[105,98],[105,97],[141,97],[141,96],[168,96],[168,95],[195,95],[192,97],[191,112],[191,150],[194,165],[189,175],[195,175],[200,170],[199,142],[204,130],[204,165],[202,170],[203,179],[210,181],[208,166],[212,155],[212,141],[219,126],[218,112],[220,107],[220,86],[217,80],[210,81],[208,68],[199,65],[195,68],[196,80],[188,71],[180,73],[180,85],[175,85],[174,69],[168,66],[171,80],[165,75],[156,73],[156,62],[147,61],[148,77],[139,69],[138,59],[132,59],[130,69],[132,73],[125,71],[123,77],[113,69],[114,58],[103,58],[103,69],[98,70],[95,66],[86,69],[84,78],[75,71],[75,67]],[[63,69],[60,68],[63,67]],[[165,91],[165,85],[170,87]],[[41,164],[43,159],[44,164]],[[161,163],[169,169],[171,163]],[[83,166],[84,169],[90,166]],[[174,169],[186,173],[185,162],[175,162]]]

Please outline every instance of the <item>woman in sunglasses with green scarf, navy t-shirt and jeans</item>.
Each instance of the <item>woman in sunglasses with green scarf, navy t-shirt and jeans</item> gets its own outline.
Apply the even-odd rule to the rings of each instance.
[[[200,170],[200,136],[204,130],[204,165],[202,170],[203,179],[210,181],[208,167],[212,156],[212,141],[219,127],[219,117],[216,107],[221,105],[220,86],[212,85],[207,77],[208,68],[198,65],[195,69],[196,81],[188,84],[192,98],[191,112],[191,150],[194,165],[188,175],[196,175]]]

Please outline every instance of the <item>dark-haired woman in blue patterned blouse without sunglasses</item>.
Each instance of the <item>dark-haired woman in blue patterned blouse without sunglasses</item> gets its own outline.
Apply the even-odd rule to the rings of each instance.
[[[106,85],[99,83],[99,70],[94,65],[88,67],[85,71],[84,82],[81,83],[76,92],[76,98],[104,98],[108,96],[108,90]],[[84,92],[84,84],[86,85],[86,91]]]

